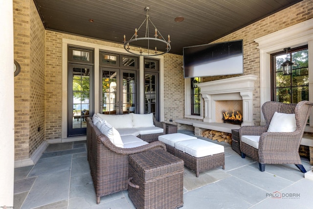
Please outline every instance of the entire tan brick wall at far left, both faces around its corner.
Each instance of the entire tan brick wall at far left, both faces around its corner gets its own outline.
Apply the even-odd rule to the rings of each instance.
[[[45,28],[33,0],[14,0],[13,17],[14,59],[21,65],[14,78],[15,160],[22,160],[44,140]]]

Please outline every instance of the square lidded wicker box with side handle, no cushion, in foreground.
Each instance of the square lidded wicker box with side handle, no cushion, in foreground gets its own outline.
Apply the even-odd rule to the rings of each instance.
[[[184,162],[164,150],[129,155],[128,195],[137,209],[183,205]]]

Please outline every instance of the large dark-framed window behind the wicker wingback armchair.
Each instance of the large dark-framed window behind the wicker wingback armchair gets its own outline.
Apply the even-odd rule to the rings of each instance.
[[[294,63],[291,75],[284,75],[281,64],[288,60]],[[308,45],[271,54],[272,101],[298,103],[309,100]]]

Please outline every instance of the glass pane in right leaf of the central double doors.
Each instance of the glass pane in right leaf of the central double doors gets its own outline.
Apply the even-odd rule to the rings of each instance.
[[[136,107],[136,73],[132,71],[123,72],[122,87],[122,111],[123,114],[135,113]]]

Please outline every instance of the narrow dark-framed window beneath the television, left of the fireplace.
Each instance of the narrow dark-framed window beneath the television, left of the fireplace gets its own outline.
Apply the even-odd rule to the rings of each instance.
[[[201,113],[201,93],[198,84],[200,77],[191,78],[191,115],[200,116]]]

